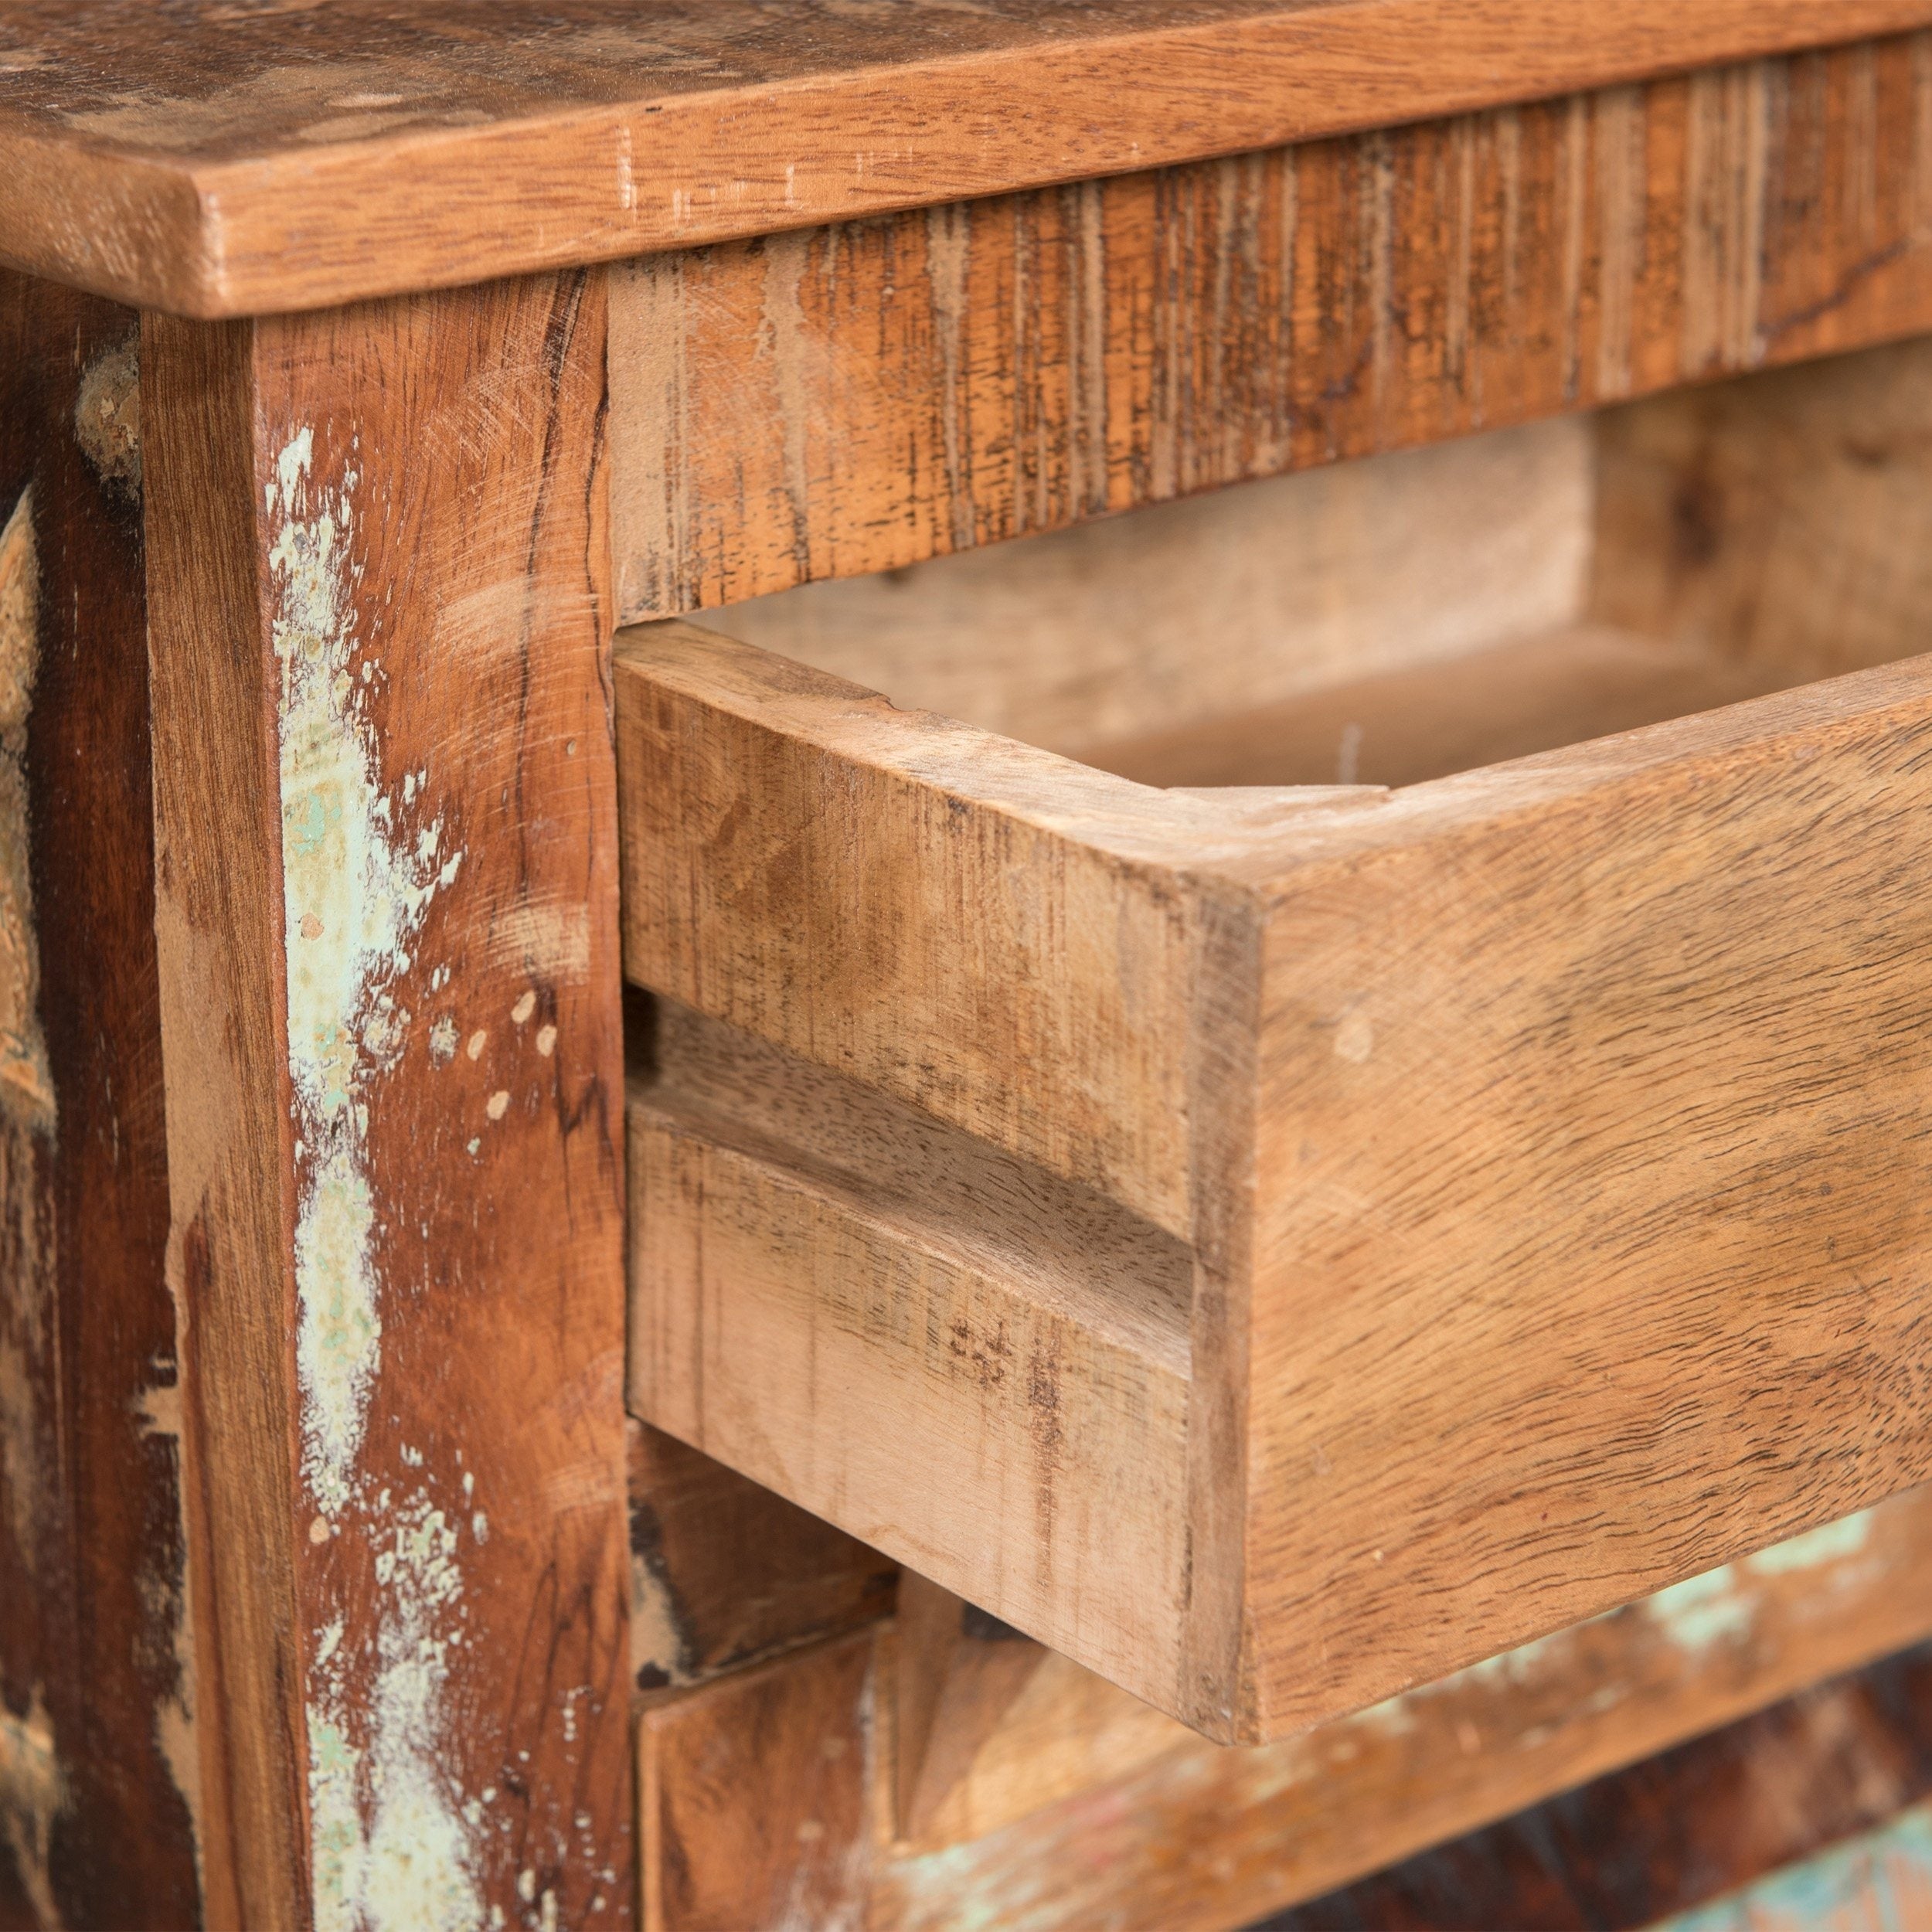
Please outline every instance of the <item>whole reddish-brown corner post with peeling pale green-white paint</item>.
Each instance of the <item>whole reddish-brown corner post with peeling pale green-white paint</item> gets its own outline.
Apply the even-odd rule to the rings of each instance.
[[[578,276],[143,325],[220,1922],[630,1911],[601,375]]]

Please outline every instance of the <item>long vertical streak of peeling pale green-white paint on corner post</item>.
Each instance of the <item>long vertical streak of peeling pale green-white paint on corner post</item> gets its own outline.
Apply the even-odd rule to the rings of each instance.
[[[383,1366],[379,1204],[369,1113],[412,1030],[402,980],[462,852],[444,850],[425,773],[390,786],[373,717],[381,663],[357,636],[357,477],[311,481],[315,439],[288,440],[267,485],[288,954],[301,1468],[323,1546],[367,1530],[373,1609],[315,1633],[307,1683],[317,1932],[466,1932],[483,1920],[477,1824],[448,1772],[442,1718],[462,1642],[462,1526],[429,1484],[363,1464]],[[429,1030],[431,1059],[454,1022]],[[440,1055],[444,1061],[450,1053]],[[406,1468],[423,1468],[404,1449]],[[352,1546],[354,1549],[355,1546]],[[340,1561],[354,1561],[342,1557]],[[473,1803],[473,1801],[471,1801]]]

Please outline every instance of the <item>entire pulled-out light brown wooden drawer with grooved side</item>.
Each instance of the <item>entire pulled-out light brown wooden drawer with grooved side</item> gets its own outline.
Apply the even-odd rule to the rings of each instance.
[[[1928,485],[1909,346],[622,634],[638,1412],[1223,1739],[1932,1474]]]

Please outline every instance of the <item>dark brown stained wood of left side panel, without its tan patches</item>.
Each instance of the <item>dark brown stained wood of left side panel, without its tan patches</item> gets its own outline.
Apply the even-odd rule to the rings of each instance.
[[[58,1128],[8,1128],[8,1294],[48,1296],[29,1362],[46,1488],[23,1569],[0,1507],[0,1702],[44,1698],[66,1781],[46,1880],[70,1926],[201,1920],[158,1714],[185,1700],[184,1532],[160,1099],[141,508],[75,440],[75,398],[135,319],[0,274],[0,497],[31,483],[41,655],[27,732],[41,1024]],[[37,1146],[29,1144],[37,1142]],[[15,1304],[17,1306],[17,1304]],[[0,1468],[0,1488],[10,1480]],[[180,1727],[185,1741],[185,1723]],[[189,1752],[191,1758],[191,1752]],[[193,1779],[193,1764],[184,1766]],[[0,1878],[0,1922],[14,1924]],[[31,1924],[31,1918],[27,1920]]]

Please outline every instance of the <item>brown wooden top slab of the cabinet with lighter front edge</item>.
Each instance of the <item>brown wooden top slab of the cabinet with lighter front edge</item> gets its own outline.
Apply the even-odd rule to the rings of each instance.
[[[0,261],[185,315],[1932,25],[1932,0],[0,0]]]

